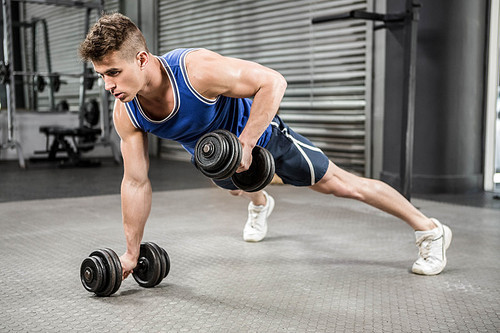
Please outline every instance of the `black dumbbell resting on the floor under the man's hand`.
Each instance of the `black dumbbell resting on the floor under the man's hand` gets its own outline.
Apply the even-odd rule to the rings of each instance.
[[[142,243],[139,260],[132,276],[144,288],[158,285],[170,271],[167,251],[155,243]],[[92,252],[80,266],[80,280],[83,287],[96,296],[114,294],[122,283],[120,258],[111,249]]]

